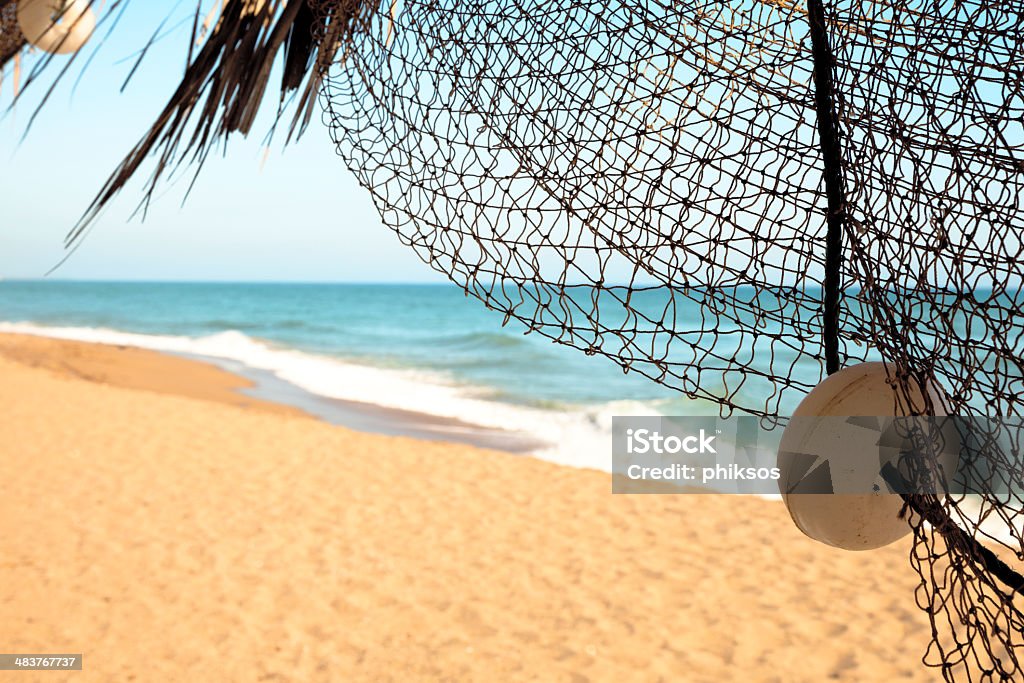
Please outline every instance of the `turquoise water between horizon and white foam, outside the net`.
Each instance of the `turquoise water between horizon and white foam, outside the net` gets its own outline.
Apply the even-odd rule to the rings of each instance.
[[[0,321],[190,338],[234,331],[372,367],[422,370],[538,407],[678,394],[608,360],[502,327],[445,285],[0,283]]]

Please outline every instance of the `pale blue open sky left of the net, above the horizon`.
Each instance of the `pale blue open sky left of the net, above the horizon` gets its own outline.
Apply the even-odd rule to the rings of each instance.
[[[190,33],[184,23],[151,50],[124,92],[135,54],[171,2],[132,2],[119,30],[97,31],[76,63],[99,47],[75,86],[66,78],[28,130],[46,83],[12,111],[10,69],[0,83],[0,278],[40,278],[66,255],[63,238],[180,79]],[[169,23],[173,26],[175,22]],[[31,65],[32,57],[27,60]],[[275,99],[271,97],[270,99]],[[272,103],[272,102],[271,102]],[[211,156],[182,206],[189,173],[164,183],[148,214],[131,218],[148,169],[113,202],[81,248],[51,278],[67,280],[443,282],[386,228],[336,157],[318,121],[295,144],[271,144],[265,108],[251,136]]]

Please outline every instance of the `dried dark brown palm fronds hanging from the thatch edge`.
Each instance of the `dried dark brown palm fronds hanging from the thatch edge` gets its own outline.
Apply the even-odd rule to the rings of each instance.
[[[103,18],[110,22],[111,31],[129,2],[114,0],[106,7]],[[218,142],[232,133],[248,135],[267,97],[278,97],[273,128],[291,111],[287,141],[301,136],[316,109],[321,82],[335,53],[358,29],[364,10],[375,9],[378,2],[218,0],[210,10],[204,7],[206,2],[199,0],[187,67],[180,83],[148,132],[128,153],[69,233],[67,244],[81,237],[151,157],[156,158],[156,167],[139,204],[143,211],[166,174],[182,163],[195,164],[198,173]],[[26,45],[17,30],[15,8],[14,0],[0,0],[0,66],[19,54]],[[207,22],[201,20],[204,15]],[[216,20],[212,22],[214,16]],[[140,50],[139,60],[160,31]],[[26,88],[43,74],[58,70],[39,108],[46,103],[76,57],[57,60],[47,54],[35,65],[26,79]],[[275,65],[283,67],[276,90],[270,83]]]

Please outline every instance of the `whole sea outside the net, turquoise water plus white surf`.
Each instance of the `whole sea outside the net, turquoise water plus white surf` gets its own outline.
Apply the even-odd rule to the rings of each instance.
[[[689,305],[682,323],[699,319]],[[612,416],[719,412],[525,334],[451,285],[6,281],[0,332],[205,359],[252,380],[254,395],[354,429],[606,471]]]

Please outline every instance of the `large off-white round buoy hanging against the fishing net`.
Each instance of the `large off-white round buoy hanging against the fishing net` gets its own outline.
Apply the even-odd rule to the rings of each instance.
[[[782,433],[779,490],[793,521],[815,541],[871,550],[910,532],[899,518],[902,498],[890,493],[880,473],[887,458],[898,458],[898,449],[882,444],[885,424],[893,423],[885,418],[898,417],[886,380],[881,362],[830,375],[804,397]],[[934,386],[928,391],[936,415],[944,416],[941,392]],[[955,469],[957,453],[952,444],[943,450],[946,474]],[[815,493],[822,489],[831,493]]]

